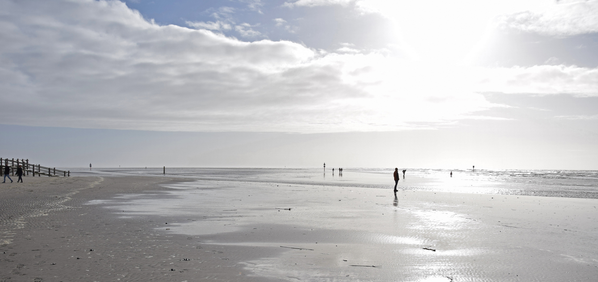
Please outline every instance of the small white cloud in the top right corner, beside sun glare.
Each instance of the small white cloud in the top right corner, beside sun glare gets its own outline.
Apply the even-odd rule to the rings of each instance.
[[[523,11],[498,17],[499,27],[566,37],[598,32],[598,0],[557,2],[544,11]]]

